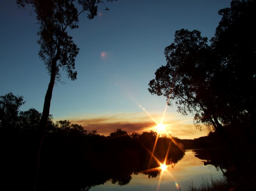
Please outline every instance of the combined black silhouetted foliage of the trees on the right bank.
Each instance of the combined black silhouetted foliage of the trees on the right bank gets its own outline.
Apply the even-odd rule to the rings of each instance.
[[[254,124],[256,97],[255,1],[233,0],[208,45],[199,31],[181,29],[165,48],[167,64],[149,83],[151,94],[175,100],[178,112],[194,114],[210,129]],[[249,124],[250,123],[250,124]]]

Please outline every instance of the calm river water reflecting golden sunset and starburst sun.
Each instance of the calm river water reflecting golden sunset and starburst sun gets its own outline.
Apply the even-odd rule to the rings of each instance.
[[[168,166],[156,178],[148,178],[148,175],[138,173],[132,175],[132,180],[127,185],[121,186],[107,181],[90,191],[184,191],[192,184],[199,187],[204,181],[211,182],[211,177],[219,179],[223,174],[212,165],[204,166],[202,160],[195,157],[195,150],[186,150],[183,159],[174,166]]]

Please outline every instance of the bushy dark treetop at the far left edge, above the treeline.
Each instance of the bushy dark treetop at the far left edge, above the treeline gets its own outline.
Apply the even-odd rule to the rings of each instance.
[[[19,107],[25,103],[23,97],[11,92],[0,96],[0,127],[4,129],[16,128]]]

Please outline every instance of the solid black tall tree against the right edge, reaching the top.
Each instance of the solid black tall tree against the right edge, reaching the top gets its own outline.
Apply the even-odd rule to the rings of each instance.
[[[223,120],[232,126],[241,123],[247,129],[255,127],[256,116],[255,8],[253,0],[233,0],[231,7],[219,11],[222,19],[211,39],[221,64],[214,81],[219,88],[214,91],[226,105],[226,115],[230,113],[230,120]]]

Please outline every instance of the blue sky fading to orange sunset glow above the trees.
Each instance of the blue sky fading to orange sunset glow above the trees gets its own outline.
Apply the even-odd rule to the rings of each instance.
[[[163,124],[167,134],[193,139],[207,135],[182,116],[166,98],[151,95],[148,83],[166,65],[164,48],[179,29],[201,31],[209,40],[231,0],[118,0],[98,7],[98,15],[80,15],[79,28],[69,30],[80,48],[77,80],[64,71],[54,86],[50,114],[70,120],[88,132],[109,135],[115,129],[144,132]],[[80,10],[78,8],[78,10]],[[32,14],[30,14],[32,13]],[[42,112],[49,75],[38,56],[36,14],[18,9],[16,0],[0,0],[0,95],[23,96],[21,111]],[[154,130],[154,129],[153,129]],[[155,130],[154,130],[155,131]]]

